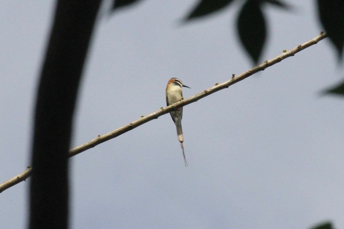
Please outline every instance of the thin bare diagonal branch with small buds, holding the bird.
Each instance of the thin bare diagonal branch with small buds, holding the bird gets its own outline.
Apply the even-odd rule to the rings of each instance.
[[[72,150],[69,151],[69,157],[73,157],[75,156],[76,154],[78,153],[81,153],[81,152],[84,152],[90,148],[93,148],[97,145],[99,145],[100,143],[103,143],[105,141],[108,141],[112,138],[115,138],[121,134],[124,134],[126,132],[128,132],[129,130],[132,130],[138,126],[141,126],[142,124],[144,123],[147,123],[153,119],[157,119],[158,117],[164,115],[164,114],[167,114],[167,113],[170,113],[171,111],[175,110],[176,108],[178,107],[181,107],[181,106],[185,106],[187,104],[190,104],[190,103],[193,103],[193,102],[196,102],[197,100],[199,99],[202,99],[204,98],[205,96],[208,96],[210,94],[213,94],[219,90],[222,90],[222,89],[225,89],[225,88],[228,88],[230,85],[234,84],[234,83],[237,83],[243,79],[246,79],[247,77],[253,75],[254,73],[257,73],[259,71],[263,71],[265,70],[267,67],[270,67],[272,65],[275,65],[277,64],[278,62],[280,62],[281,60],[283,59],[286,59],[287,57],[291,57],[291,56],[294,56],[296,53],[298,53],[299,51],[305,49],[305,48],[308,48],[309,46],[312,46],[312,45],[315,45],[316,43],[318,43],[319,41],[321,41],[322,39],[326,38],[327,35],[323,32],[320,33],[319,36],[315,37],[314,39],[306,42],[306,43],[303,43],[302,45],[298,45],[297,47],[289,50],[289,51],[283,51],[283,53],[271,60],[267,60],[265,61],[263,64],[261,65],[258,65],[238,76],[234,76],[233,74],[233,77],[224,82],[224,83],[221,83],[221,84],[216,84],[214,87],[211,87],[209,89],[206,89],[196,95],[193,95],[191,96],[190,98],[188,99],[185,99],[183,101],[180,101],[180,102],[177,102],[177,103],[174,103],[170,106],[167,106],[167,107],[161,107],[158,111],[155,111],[145,117],[142,117],[142,118],[139,118],[137,119],[136,121],[134,122],[131,122],[119,129],[116,129],[108,134],[105,134],[105,135],[98,135],[97,138],[93,139],[92,141],[89,141],[81,146],[78,146]],[[24,181],[26,178],[28,178],[29,176],[31,175],[31,167],[28,167],[28,169],[26,171],[24,171],[23,173],[15,176],[14,178],[12,178],[11,180],[8,180],[2,184],[0,184],[0,193],[4,190],[6,190],[7,188],[9,187],[12,187],[13,185],[15,184],[18,184],[19,182],[22,182]]]

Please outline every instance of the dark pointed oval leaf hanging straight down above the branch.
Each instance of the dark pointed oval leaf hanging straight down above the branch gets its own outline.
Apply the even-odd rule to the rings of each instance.
[[[237,28],[241,43],[257,64],[267,33],[264,15],[258,1],[248,0],[244,4],[238,16]]]

